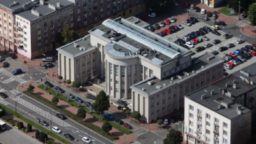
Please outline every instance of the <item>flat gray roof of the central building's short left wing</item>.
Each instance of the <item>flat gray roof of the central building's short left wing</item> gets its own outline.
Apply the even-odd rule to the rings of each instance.
[[[75,58],[77,56],[81,56],[82,54],[85,54],[96,48],[91,46],[90,41],[91,41],[90,35],[85,35],[85,37],[81,39],[77,39],[76,41],[73,41],[72,43],[68,43],[67,45],[61,46],[56,50],[58,50],[58,52],[62,52],[66,54],[67,56],[70,56],[71,58]],[[77,45],[77,47],[75,47],[74,45]],[[85,50],[80,50],[80,48],[85,48]]]

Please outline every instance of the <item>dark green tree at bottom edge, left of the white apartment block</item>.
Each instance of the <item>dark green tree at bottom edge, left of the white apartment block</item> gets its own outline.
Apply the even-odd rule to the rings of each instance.
[[[181,144],[183,141],[182,134],[179,130],[171,128],[169,134],[163,139],[163,144]]]

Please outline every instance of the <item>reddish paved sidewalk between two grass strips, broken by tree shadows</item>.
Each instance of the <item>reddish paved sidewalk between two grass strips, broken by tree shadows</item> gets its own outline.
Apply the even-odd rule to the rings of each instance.
[[[39,94],[41,97],[48,99],[49,101],[51,101],[53,99],[53,95],[48,95],[47,92],[45,92],[44,90],[41,90],[40,88],[37,88],[38,85],[40,85],[41,83],[39,82],[35,82],[35,81],[31,81],[31,82],[26,82],[23,84],[20,84],[20,86],[18,86],[18,91],[22,91],[22,86],[24,86],[23,90],[26,90],[28,88],[28,86],[32,84],[33,86],[35,86],[34,92],[35,94]],[[74,106],[70,106],[69,103],[67,103],[66,101],[59,101],[58,106],[63,107],[64,109],[67,109],[68,111],[76,114],[77,113],[77,107]],[[86,118],[84,119],[87,122],[91,122],[92,124],[95,124],[96,126],[99,126],[100,128],[102,127],[103,123],[102,121],[93,118],[91,115],[87,114]],[[110,133],[117,135],[119,137],[118,140],[114,141],[114,143],[130,143],[131,141],[136,141],[136,135],[135,134],[123,134],[122,132],[120,132],[119,130],[117,130],[116,128],[112,128],[112,130],[110,131]],[[124,139],[125,137],[125,139]],[[125,143],[124,143],[125,140]]]

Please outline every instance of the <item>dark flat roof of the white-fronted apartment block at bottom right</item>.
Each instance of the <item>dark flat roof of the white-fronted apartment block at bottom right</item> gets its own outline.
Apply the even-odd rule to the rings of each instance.
[[[203,105],[204,107],[207,107],[208,109],[211,109],[216,113],[223,115],[226,118],[232,119],[234,117],[239,116],[237,112],[237,107],[240,105],[238,103],[233,102],[234,98],[230,98],[228,96],[223,95],[219,90],[215,90],[214,94],[211,95],[211,90],[214,90],[214,87],[211,85],[207,85],[184,97],[191,99],[192,101],[196,101],[200,105]],[[202,99],[203,94],[206,94],[206,98]],[[222,102],[226,103],[226,105],[228,105],[228,108],[223,107],[219,109],[219,105],[223,105]],[[240,110],[242,114],[251,113],[250,109],[247,109],[243,106],[241,107]]]

